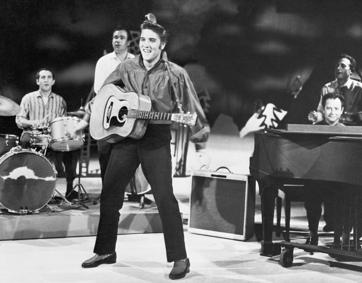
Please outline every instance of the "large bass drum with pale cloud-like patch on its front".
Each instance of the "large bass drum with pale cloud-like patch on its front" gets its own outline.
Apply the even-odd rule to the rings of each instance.
[[[13,213],[33,213],[55,194],[56,175],[49,160],[31,150],[0,158],[0,204]]]

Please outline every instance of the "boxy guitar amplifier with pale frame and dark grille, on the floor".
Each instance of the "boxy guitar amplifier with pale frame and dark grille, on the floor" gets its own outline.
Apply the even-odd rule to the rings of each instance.
[[[193,172],[188,232],[241,241],[251,238],[255,182],[251,175]]]

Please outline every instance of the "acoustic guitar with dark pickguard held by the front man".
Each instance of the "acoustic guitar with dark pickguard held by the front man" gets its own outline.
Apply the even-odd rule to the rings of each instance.
[[[95,140],[117,142],[125,137],[140,139],[148,120],[171,120],[194,126],[197,114],[151,112],[151,99],[146,95],[124,92],[108,83],[101,87],[92,108],[89,130]]]

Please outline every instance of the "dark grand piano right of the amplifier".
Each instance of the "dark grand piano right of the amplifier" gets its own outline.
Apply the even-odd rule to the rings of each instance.
[[[289,124],[255,133],[249,169],[261,197],[261,255],[274,256],[281,253],[272,241],[278,190],[322,181],[362,186],[362,127]]]

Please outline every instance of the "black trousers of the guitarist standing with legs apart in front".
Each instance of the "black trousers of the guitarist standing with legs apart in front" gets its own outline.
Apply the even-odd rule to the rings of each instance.
[[[149,124],[139,140],[125,138],[115,143],[101,192],[100,221],[94,253],[103,255],[115,251],[119,210],[123,206],[125,188],[141,164],[159,210],[167,261],[187,257],[182,218],[172,188],[170,141],[169,125]]]

